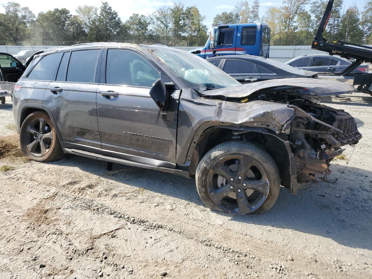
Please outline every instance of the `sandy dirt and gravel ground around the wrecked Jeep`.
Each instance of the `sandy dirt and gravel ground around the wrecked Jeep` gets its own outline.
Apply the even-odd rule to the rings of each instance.
[[[3,136],[16,133],[10,102]],[[282,188],[264,215],[211,211],[193,180],[168,173],[1,159],[14,167],[0,171],[1,278],[372,278],[372,97],[322,102],[350,112],[362,140],[330,182]]]

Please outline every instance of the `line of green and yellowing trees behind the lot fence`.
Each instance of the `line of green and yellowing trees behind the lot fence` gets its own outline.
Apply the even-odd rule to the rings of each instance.
[[[267,7],[259,16],[260,2],[239,0],[231,12],[222,12],[213,24],[265,22],[271,28],[272,45],[311,43],[328,0],[283,0],[280,7]],[[307,9],[310,5],[310,9]],[[27,42],[128,41],[161,43],[170,46],[200,46],[208,38],[205,16],[197,6],[183,3],[164,6],[150,15],[132,14],[122,21],[108,2],[100,7],[77,6],[70,10],[53,9],[37,16],[28,7],[8,2],[0,13],[0,41]],[[208,26],[209,27],[209,26]],[[372,0],[363,11],[355,5],[346,10],[343,0],[335,0],[324,38],[372,44]],[[46,44],[46,43],[45,43]]]

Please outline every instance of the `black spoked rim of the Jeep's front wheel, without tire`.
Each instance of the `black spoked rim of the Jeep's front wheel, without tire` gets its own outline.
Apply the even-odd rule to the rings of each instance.
[[[223,177],[224,183],[215,183],[215,176]],[[209,171],[207,183],[214,203],[224,211],[236,214],[247,214],[258,209],[266,201],[270,189],[261,164],[251,157],[238,154],[219,159]]]

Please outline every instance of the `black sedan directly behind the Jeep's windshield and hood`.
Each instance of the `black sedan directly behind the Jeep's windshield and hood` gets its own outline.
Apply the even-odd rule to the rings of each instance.
[[[270,58],[253,55],[225,55],[206,59],[240,83],[276,78],[316,78],[318,73],[298,70]]]

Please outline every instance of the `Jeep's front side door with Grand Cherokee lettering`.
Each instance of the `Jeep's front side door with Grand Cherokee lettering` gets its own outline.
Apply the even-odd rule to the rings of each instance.
[[[174,168],[179,90],[170,92],[167,113],[160,114],[150,88],[160,77],[170,79],[156,65],[132,49],[105,50],[102,61],[97,114],[103,154]]]

